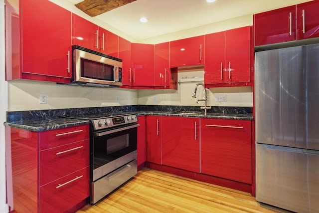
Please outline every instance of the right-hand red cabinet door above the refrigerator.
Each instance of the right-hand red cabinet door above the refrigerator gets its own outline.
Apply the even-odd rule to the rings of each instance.
[[[319,1],[297,4],[297,39],[319,37]]]

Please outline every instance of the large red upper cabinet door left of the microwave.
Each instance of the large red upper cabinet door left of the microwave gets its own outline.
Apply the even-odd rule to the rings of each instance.
[[[22,73],[71,76],[70,11],[47,0],[22,0],[21,31]]]

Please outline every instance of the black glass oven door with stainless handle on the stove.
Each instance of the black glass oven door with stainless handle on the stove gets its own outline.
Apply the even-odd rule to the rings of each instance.
[[[93,133],[92,181],[111,173],[137,158],[137,127],[130,124]]]

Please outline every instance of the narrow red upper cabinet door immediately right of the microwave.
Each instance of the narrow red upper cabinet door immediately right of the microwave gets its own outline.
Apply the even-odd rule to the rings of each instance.
[[[123,85],[132,85],[131,68],[131,42],[119,37],[119,58],[123,60],[122,83]]]

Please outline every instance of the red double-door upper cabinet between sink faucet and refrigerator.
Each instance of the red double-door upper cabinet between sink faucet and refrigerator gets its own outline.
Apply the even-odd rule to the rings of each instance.
[[[250,26],[205,35],[204,82],[206,86],[250,82],[250,54]]]

